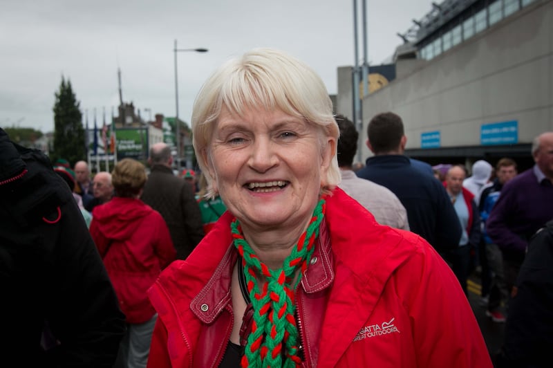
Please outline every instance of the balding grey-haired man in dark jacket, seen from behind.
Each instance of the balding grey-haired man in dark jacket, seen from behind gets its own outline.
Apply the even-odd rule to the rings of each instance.
[[[140,198],[160,212],[169,228],[177,259],[186,259],[204,236],[194,192],[186,181],[173,174],[171,147],[166,143],[152,145],[148,163],[151,172]]]

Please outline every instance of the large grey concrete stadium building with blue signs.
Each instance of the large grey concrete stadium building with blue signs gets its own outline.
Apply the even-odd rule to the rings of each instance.
[[[407,51],[395,55],[395,79],[362,98],[362,141],[372,116],[393,111],[413,158],[470,165],[509,156],[529,167],[532,139],[553,131],[553,1],[433,6],[398,48]],[[352,72],[338,68],[335,110],[346,116],[353,116]],[[360,160],[371,155],[360,145]]]

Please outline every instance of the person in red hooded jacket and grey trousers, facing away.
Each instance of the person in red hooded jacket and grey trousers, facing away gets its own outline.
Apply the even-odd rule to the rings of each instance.
[[[146,367],[156,323],[147,291],[176,257],[165,221],[139,199],[146,178],[142,163],[120,160],[112,173],[115,196],[94,208],[90,228],[126,316],[118,356],[124,367]]]

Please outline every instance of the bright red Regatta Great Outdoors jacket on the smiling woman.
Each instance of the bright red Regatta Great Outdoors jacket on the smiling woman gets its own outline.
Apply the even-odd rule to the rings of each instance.
[[[158,320],[148,367],[217,367],[223,358],[234,318],[230,221],[227,212],[150,289]],[[380,226],[338,188],[296,300],[304,367],[491,367],[440,255],[412,232]]]

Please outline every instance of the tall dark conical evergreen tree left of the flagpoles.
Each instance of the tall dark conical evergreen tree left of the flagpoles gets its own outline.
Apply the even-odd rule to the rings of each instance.
[[[84,129],[80,102],[75,98],[71,82],[62,76],[59,91],[55,93],[54,104],[54,150],[50,160],[65,158],[75,165],[78,160],[86,159]]]

